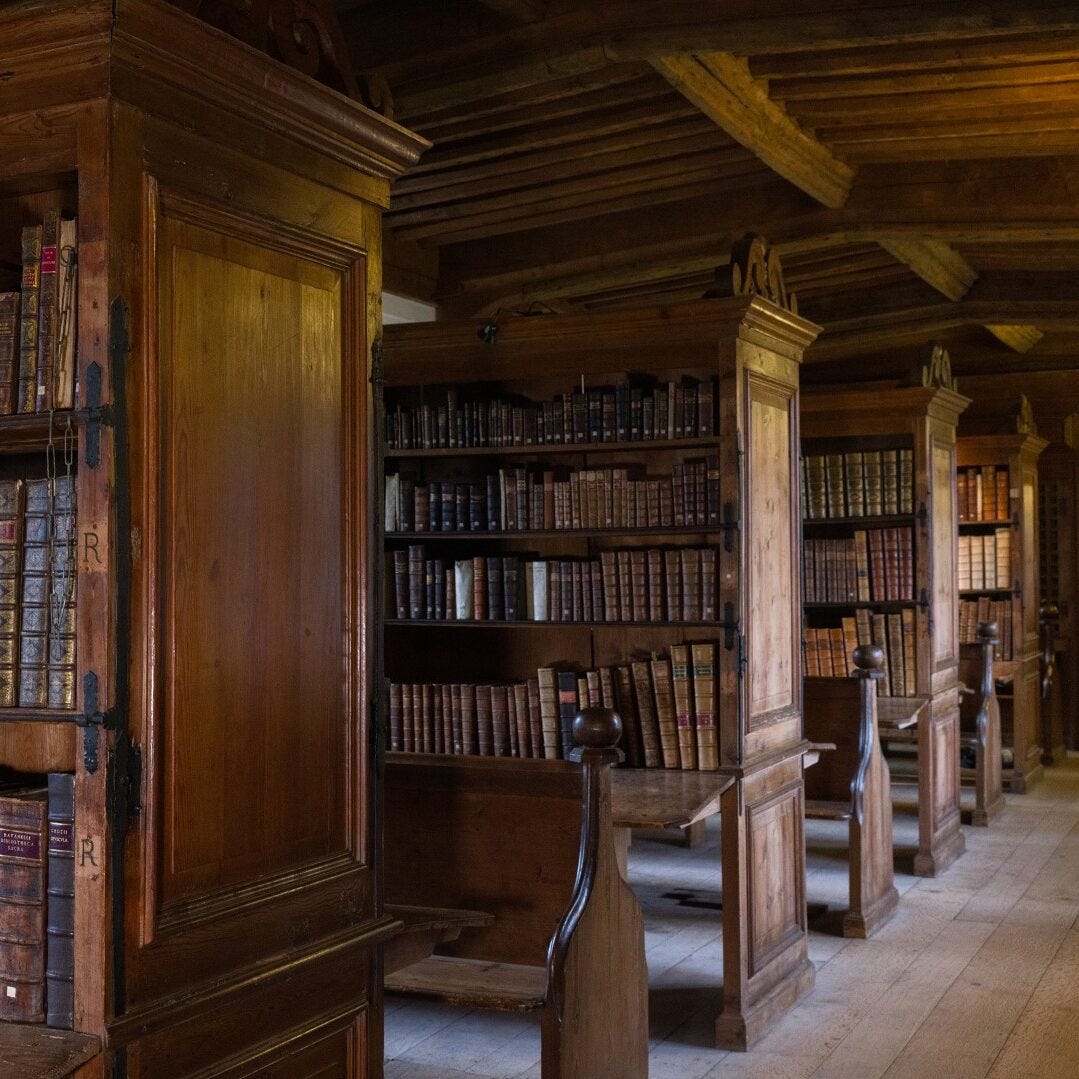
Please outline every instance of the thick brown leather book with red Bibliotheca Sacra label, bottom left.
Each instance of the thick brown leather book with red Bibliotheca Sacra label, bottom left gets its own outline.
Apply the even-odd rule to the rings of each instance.
[[[0,1020],[45,1021],[47,790],[0,794]]]

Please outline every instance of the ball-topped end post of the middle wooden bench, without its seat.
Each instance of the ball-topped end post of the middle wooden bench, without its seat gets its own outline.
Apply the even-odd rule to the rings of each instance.
[[[899,904],[892,864],[891,780],[877,726],[877,680],[884,651],[855,648],[859,679],[858,767],[850,780],[850,904],[845,937],[869,937]]]

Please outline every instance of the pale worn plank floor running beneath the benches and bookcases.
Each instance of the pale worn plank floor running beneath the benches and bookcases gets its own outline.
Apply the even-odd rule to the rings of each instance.
[[[896,788],[896,843],[917,820]],[[713,822],[714,823],[714,822]],[[750,1053],[710,1048],[722,964],[718,832],[695,851],[634,841],[645,910],[653,1079],[1030,1079],[1079,1077],[1079,759],[1008,797],[994,827],[964,829],[942,876],[897,875],[891,921],[871,941],[834,935],[844,825],[810,821],[807,896],[817,984]],[[386,1002],[387,1079],[540,1077],[528,1019]]]

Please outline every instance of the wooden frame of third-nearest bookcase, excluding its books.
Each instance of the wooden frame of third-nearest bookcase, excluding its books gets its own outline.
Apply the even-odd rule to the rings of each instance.
[[[928,707],[917,724],[918,850],[914,872],[933,876],[964,850],[959,822],[958,606],[956,593],[956,422],[969,404],[951,390],[882,387],[873,391],[805,393],[802,453],[911,454],[912,497],[907,511],[891,517],[803,518],[804,538],[851,537],[858,530],[911,530],[913,585],[900,602],[847,602],[807,606],[807,627],[838,625],[858,606],[877,613],[907,611],[914,623],[914,693],[893,694],[882,711]],[[911,615],[907,616],[909,619]],[[907,683],[910,685],[910,683]],[[904,689],[906,686],[904,686]],[[883,735],[888,738],[887,733]]]

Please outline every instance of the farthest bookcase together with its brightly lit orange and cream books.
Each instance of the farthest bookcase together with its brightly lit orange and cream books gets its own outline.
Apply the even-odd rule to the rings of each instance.
[[[1024,793],[1042,770],[1038,625],[1037,435],[958,440],[959,634],[975,644],[979,620],[997,623],[994,672],[1000,700],[1003,774]]]

